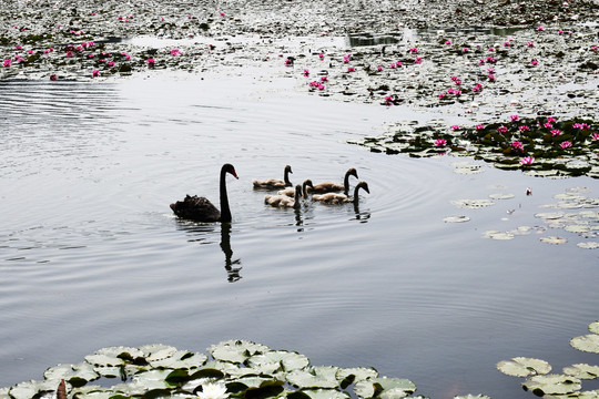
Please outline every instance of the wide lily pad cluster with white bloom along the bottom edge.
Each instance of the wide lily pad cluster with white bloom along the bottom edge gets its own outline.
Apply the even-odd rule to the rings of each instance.
[[[373,368],[312,366],[298,352],[244,340],[209,352],[165,345],[103,348],[81,364],[49,368],[43,381],[0,389],[0,398],[51,397],[61,380],[69,398],[416,398],[412,381],[380,377]],[[93,381],[99,383],[88,383]]]

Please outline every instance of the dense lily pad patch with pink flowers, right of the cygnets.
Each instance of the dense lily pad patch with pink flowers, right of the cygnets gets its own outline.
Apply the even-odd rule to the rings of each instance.
[[[592,120],[511,115],[510,121],[473,127],[405,125],[398,132],[352,143],[387,154],[473,155],[534,176],[599,177],[599,124]]]

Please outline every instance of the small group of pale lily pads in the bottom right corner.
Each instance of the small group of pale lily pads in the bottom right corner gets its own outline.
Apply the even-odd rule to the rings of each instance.
[[[579,350],[599,354],[599,321],[589,325],[586,336],[576,337],[570,345]],[[497,364],[499,371],[514,377],[527,377],[522,388],[547,399],[597,399],[599,390],[581,390],[582,380],[597,379],[599,366],[577,364],[565,367],[561,374],[549,374],[551,366],[540,359],[516,357]]]

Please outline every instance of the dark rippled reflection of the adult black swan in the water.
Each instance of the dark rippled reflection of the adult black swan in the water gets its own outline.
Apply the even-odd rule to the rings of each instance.
[[[189,242],[197,242],[200,244],[214,244],[212,238],[214,237],[215,227],[221,226],[221,249],[225,255],[225,270],[226,279],[229,283],[234,283],[242,278],[240,270],[241,258],[233,259],[233,249],[231,249],[231,223],[220,223],[220,224],[199,224],[185,219],[176,219],[177,227],[185,233],[193,236]]]

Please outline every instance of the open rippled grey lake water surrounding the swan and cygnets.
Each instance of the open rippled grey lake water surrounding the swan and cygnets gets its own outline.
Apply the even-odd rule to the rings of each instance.
[[[372,366],[432,398],[531,398],[495,368],[516,356],[557,372],[597,362],[568,344],[599,317],[598,252],[576,245],[592,239],[483,237],[546,227],[544,205],[576,187],[597,197],[597,181],[370,153],[346,141],[438,115],[308,96],[288,79],[156,74],[0,82],[0,386],[102,347],[205,352],[233,338]],[[227,178],[231,228],[173,217],[185,194],[217,203],[226,162],[240,175]],[[296,183],[354,166],[370,194],[358,209],[271,208],[252,180],[285,164]],[[515,197],[451,204],[499,192]],[[443,222],[453,215],[470,222]],[[556,235],[569,242],[539,241]]]

